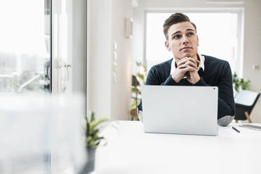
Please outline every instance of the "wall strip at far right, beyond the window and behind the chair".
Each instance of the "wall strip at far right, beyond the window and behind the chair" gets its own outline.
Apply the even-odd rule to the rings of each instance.
[[[261,92],[261,1],[245,1],[245,33],[243,43],[243,78],[250,79],[253,91]],[[259,66],[254,70],[253,65]],[[253,112],[252,121],[261,123],[261,98]]]

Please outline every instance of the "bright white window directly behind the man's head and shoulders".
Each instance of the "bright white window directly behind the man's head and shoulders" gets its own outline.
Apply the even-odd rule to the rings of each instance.
[[[173,13],[147,13],[145,58],[148,68],[173,58],[165,48],[162,27],[164,20]],[[241,74],[241,12],[185,14],[196,24],[199,53],[227,60],[232,72]]]

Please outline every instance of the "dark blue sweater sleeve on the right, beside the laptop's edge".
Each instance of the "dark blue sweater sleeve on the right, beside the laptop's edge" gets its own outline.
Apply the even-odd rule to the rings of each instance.
[[[222,69],[217,87],[218,87],[218,107],[217,107],[217,119],[221,119],[223,116],[234,116],[235,104],[232,85],[232,72],[229,63],[226,62]],[[201,79],[194,84],[194,86],[209,86]],[[229,122],[230,123],[230,122]],[[223,126],[226,126],[225,124]]]

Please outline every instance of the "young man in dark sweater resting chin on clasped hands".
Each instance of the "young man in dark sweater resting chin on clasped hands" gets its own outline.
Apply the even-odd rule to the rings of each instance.
[[[170,15],[164,22],[163,32],[166,36],[165,46],[174,58],[152,67],[146,84],[217,86],[217,123],[220,126],[227,126],[234,119],[235,113],[229,63],[198,53],[199,38],[196,35],[196,25],[190,22],[187,15],[182,13]],[[138,115],[142,121],[142,103],[138,107]]]

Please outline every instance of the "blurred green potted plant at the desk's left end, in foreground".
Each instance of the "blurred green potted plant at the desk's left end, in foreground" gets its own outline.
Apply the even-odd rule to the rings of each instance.
[[[100,136],[101,123],[108,121],[107,118],[95,119],[95,112],[89,112],[88,116],[85,117],[85,147],[88,153],[88,162],[86,166],[84,166],[83,170],[80,173],[91,173],[95,167],[95,152],[100,145],[100,142],[104,139],[104,137]]]

